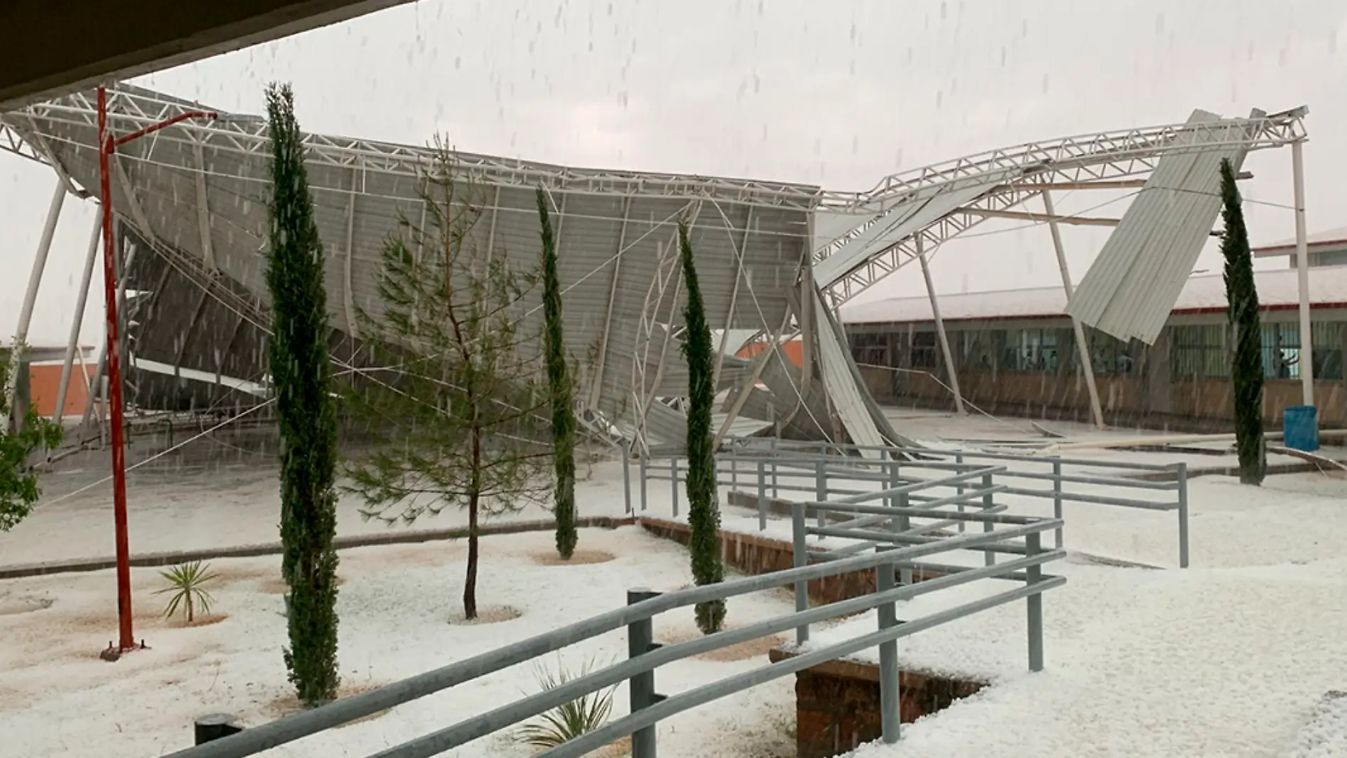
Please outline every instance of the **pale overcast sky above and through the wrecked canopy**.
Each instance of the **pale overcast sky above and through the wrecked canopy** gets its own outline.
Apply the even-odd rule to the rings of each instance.
[[[136,83],[259,113],[271,81],[294,83],[311,132],[414,144],[443,133],[471,152],[832,190],[997,147],[1184,121],[1193,108],[1308,105],[1309,230],[1347,226],[1342,0],[420,0]],[[1290,152],[1245,168],[1254,242],[1293,236],[1278,207],[1292,202]],[[54,186],[50,170],[0,153],[5,338]],[[1074,193],[1057,209],[1110,199]],[[66,202],[35,345],[65,343],[93,218],[90,203]],[[1065,228],[1075,279],[1106,233]],[[1203,267],[1219,267],[1212,252]],[[1059,281],[1047,229],[1010,221],[947,245],[932,269],[940,292]],[[873,291],[921,292],[909,269]],[[98,341],[101,289],[90,300],[85,343]]]

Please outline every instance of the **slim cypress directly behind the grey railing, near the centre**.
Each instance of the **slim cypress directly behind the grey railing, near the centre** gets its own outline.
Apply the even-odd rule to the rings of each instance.
[[[688,241],[687,222],[678,226],[679,253],[683,263],[683,287],[687,307],[683,311],[686,329],[682,345],[687,359],[687,522],[691,528],[688,549],[692,553],[692,580],[698,586],[725,580],[721,560],[721,509],[715,487],[715,442],[711,434],[711,408],[715,403],[715,358],[711,327],[706,322],[702,288],[696,281],[692,244]],[[725,600],[710,600],[696,606],[696,626],[704,634],[725,626]]]

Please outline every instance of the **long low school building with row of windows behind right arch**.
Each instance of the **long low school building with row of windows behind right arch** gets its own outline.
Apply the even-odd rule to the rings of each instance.
[[[1336,233],[1340,232],[1340,233]],[[1315,405],[1321,427],[1347,425],[1347,230],[1311,240],[1309,289]],[[1294,246],[1290,246],[1294,252]],[[1288,254],[1285,245],[1257,250]],[[1266,376],[1263,417],[1301,405],[1297,276],[1292,267],[1255,275]],[[947,366],[927,298],[893,298],[843,308],[853,355],[876,400],[954,408],[952,369],[966,401],[989,413],[1090,421],[1090,396],[1060,287],[943,295]],[[1219,272],[1188,279],[1154,345],[1121,342],[1086,329],[1105,420],[1185,431],[1227,431],[1233,415],[1233,333]]]

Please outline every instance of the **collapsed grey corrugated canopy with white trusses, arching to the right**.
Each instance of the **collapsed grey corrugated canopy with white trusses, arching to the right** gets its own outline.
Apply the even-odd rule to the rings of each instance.
[[[123,133],[202,108],[131,86],[110,96],[110,124]],[[97,176],[92,102],[81,93],[0,114],[0,149],[53,166],[71,191],[82,193]],[[1304,109],[1296,109],[1029,143],[888,176],[867,193],[470,153],[455,159],[461,174],[486,191],[481,205],[489,221],[478,242],[488,254],[525,265],[536,260],[533,191],[548,191],[558,219],[567,347],[591,357],[579,400],[606,428],[647,448],[682,444],[678,399],[687,376],[678,349],[683,291],[674,222],[684,217],[692,222],[711,327],[721,334],[717,378],[727,397],[718,436],[772,425],[814,439],[909,443],[897,438],[859,380],[835,323],[841,304],[919,250],[929,254],[1053,188],[1140,186],[1141,176],[1181,156],[1196,162],[1294,144],[1305,139],[1303,117]],[[329,253],[335,354],[349,366],[356,310],[377,311],[380,242],[399,214],[418,217],[416,190],[431,151],[322,135],[304,143]],[[230,355],[240,349],[264,353],[268,152],[260,117],[230,116],[160,131],[114,162],[116,210],[154,253],[131,267],[136,288],[151,292],[137,298],[147,308],[136,341],[143,357],[216,376],[229,364],[240,380],[264,378],[261,354],[233,362]],[[137,273],[155,260],[163,261],[155,272]],[[182,304],[156,308],[160,302]],[[531,312],[537,318],[537,308]],[[249,330],[257,334],[242,334]],[[770,347],[752,359],[735,358],[734,345],[745,334]],[[803,337],[803,369],[777,347],[791,334]],[[737,425],[741,416],[756,423]]]

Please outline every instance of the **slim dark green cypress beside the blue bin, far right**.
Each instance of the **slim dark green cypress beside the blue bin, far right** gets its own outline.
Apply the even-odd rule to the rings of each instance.
[[[1262,326],[1258,320],[1258,289],[1254,285],[1249,230],[1245,228],[1245,211],[1230,160],[1220,162],[1220,198],[1224,203],[1220,215],[1226,223],[1220,237],[1220,254],[1226,259],[1226,315],[1235,334],[1230,378],[1234,386],[1239,481],[1245,485],[1261,485],[1268,470],[1262,429]]]

